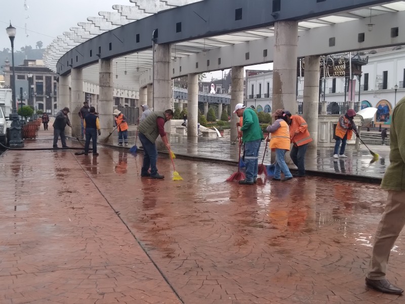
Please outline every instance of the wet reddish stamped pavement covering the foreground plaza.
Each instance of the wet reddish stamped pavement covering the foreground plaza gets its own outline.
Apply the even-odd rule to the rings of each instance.
[[[49,145],[50,134],[26,141]],[[69,145],[77,142],[69,141]],[[100,147],[0,157],[0,302],[402,303],[368,290],[371,239],[387,195],[322,177],[225,182],[234,166]],[[405,286],[398,238],[388,278]]]

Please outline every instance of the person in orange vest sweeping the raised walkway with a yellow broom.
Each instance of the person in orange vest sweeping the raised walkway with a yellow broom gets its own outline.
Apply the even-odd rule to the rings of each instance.
[[[344,155],[346,141],[351,139],[351,137],[353,136],[353,131],[356,134],[356,137],[359,137],[356,125],[353,122],[353,118],[355,116],[356,112],[353,109],[348,109],[345,115],[339,117],[339,121],[335,129],[336,143],[335,143],[335,150],[333,153],[334,158],[347,158],[347,156]],[[340,147],[339,152],[339,145],[341,142],[342,146]]]

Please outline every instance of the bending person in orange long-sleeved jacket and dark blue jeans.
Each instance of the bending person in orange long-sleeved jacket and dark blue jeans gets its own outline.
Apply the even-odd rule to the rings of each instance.
[[[299,115],[292,115],[290,111],[285,111],[290,118],[290,140],[293,143],[290,156],[294,165],[298,168],[298,173],[293,174],[294,177],[305,176],[305,153],[308,143],[312,141],[308,132],[307,122]]]

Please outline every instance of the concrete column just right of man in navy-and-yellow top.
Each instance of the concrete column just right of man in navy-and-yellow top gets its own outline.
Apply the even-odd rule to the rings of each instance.
[[[99,59],[99,100],[98,100],[98,112],[100,118],[101,136],[99,141],[106,138],[108,134],[113,130],[113,68],[112,60]],[[112,136],[109,138],[109,143],[112,143]]]

